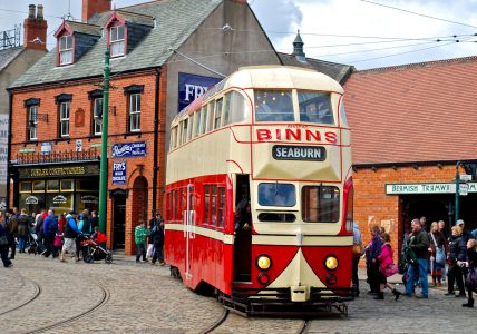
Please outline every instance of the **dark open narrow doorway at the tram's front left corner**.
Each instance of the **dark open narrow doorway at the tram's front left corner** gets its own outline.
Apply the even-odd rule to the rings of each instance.
[[[236,176],[234,217],[234,281],[251,282],[252,213],[249,175]]]

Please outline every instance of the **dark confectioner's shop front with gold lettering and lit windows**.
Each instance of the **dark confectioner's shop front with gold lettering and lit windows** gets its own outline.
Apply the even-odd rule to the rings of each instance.
[[[14,168],[16,167],[16,168]],[[28,213],[52,208],[57,214],[85,208],[97,210],[99,203],[99,164],[61,166],[13,166],[18,183],[14,204]]]

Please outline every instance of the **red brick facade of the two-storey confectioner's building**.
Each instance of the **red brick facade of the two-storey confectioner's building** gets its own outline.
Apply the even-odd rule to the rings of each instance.
[[[162,168],[164,157],[164,134],[165,134],[165,96],[166,96],[166,76],[163,75],[160,81],[160,102],[159,102],[159,140],[158,140],[158,183],[157,183],[157,203],[156,207],[162,208],[162,193],[164,184],[165,168]],[[69,85],[62,86],[48,86],[37,87],[33,89],[23,89],[13,91],[12,101],[12,137],[11,137],[11,154],[9,159],[16,159],[17,155],[21,155],[19,150],[21,148],[35,148],[36,153],[40,151],[42,141],[52,143],[52,153],[75,150],[76,139],[82,140],[84,150],[90,149],[91,144],[100,144],[100,137],[91,138],[91,112],[93,104],[88,99],[88,91],[98,89],[97,84],[100,84],[100,79],[82,81],[82,82],[70,82]],[[108,189],[110,188],[124,188],[132,189],[137,177],[144,176],[147,180],[147,207],[142,205],[147,215],[150,215],[153,207],[153,170],[154,170],[154,101],[155,101],[155,85],[156,76],[155,71],[145,71],[140,73],[129,75],[127,77],[115,77],[111,80],[114,89],[109,90],[109,107],[116,107],[116,115],[108,114],[109,118],[109,151],[110,147],[115,143],[132,143],[132,141],[146,141],[147,154],[145,157],[136,158],[111,158],[109,157],[108,163]],[[140,115],[140,134],[129,135],[127,132],[127,116],[128,116],[128,96],[124,95],[124,87],[130,85],[144,85],[144,92],[142,94],[142,115]],[[55,102],[55,96],[60,94],[71,94],[72,100],[70,105],[70,140],[55,140],[58,139],[58,105]],[[48,122],[43,120],[38,121],[38,143],[28,143],[27,140],[27,124],[28,124],[28,110],[25,107],[25,100],[29,98],[40,99],[40,106],[38,108],[39,114],[48,114]],[[79,109],[84,110],[85,121],[84,125],[75,124],[75,117],[79,112]],[[100,147],[97,148],[97,155],[100,155]],[[117,186],[111,184],[113,174],[113,161],[125,160],[127,161],[127,185]],[[99,187],[99,185],[98,185]],[[13,187],[11,187],[12,189]],[[137,222],[134,214],[133,206],[133,190],[129,190],[129,196],[126,199],[126,254],[134,253],[134,230],[132,229]],[[10,205],[12,204],[13,194],[10,196]],[[107,233],[113,236],[113,205],[111,198],[107,199]],[[137,216],[136,216],[137,217]],[[150,217],[146,216],[146,222]],[[134,224],[133,224],[134,223]],[[111,240],[108,242],[108,247],[111,246]]]

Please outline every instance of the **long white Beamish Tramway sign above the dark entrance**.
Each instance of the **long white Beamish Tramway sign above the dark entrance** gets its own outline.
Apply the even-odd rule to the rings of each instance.
[[[477,183],[467,183],[468,193],[477,193]],[[456,194],[455,183],[386,185],[386,195]]]

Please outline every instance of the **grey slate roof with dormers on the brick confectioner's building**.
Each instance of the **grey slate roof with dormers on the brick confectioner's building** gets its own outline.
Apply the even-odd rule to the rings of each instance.
[[[128,52],[126,57],[111,59],[111,72],[130,71],[164,65],[197,27],[223,0],[162,0],[124,8],[124,11],[154,17],[156,26]],[[89,24],[101,26],[113,11],[91,17]],[[11,88],[57,82],[103,75],[106,36],[71,66],[56,66],[56,49],[42,57]]]

